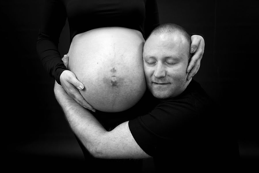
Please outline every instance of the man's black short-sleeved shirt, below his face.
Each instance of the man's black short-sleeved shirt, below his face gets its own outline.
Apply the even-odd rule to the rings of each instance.
[[[237,141],[226,132],[227,117],[219,114],[220,108],[200,84],[192,80],[179,96],[156,101],[151,112],[129,121],[129,129],[138,145],[154,157],[158,172],[213,170],[226,162],[230,166],[229,160],[238,153]]]

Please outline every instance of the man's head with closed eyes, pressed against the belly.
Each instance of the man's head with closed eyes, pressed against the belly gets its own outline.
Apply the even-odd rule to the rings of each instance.
[[[191,36],[182,27],[166,23],[155,28],[143,49],[148,90],[158,99],[176,97],[191,80],[186,69],[191,59]]]

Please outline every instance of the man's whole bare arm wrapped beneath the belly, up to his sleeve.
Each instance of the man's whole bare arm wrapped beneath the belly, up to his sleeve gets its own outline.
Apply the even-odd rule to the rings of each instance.
[[[94,157],[103,159],[151,157],[134,140],[128,121],[121,123],[112,131],[106,131],[98,120],[87,109],[77,104],[57,82],[54,93],[71,129]]]

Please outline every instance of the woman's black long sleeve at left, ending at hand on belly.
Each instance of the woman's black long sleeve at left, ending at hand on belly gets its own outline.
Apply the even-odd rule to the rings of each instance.
[[[37,54],[49,73],[60,84],[60,75],[67,68],[58,51],[60,33],[66,22],[66,9],[59,0],[46,0],[37,39]]]

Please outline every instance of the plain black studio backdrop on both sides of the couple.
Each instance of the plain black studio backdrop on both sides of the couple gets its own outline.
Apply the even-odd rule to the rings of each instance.
[[[157,0],[160,23],[176,23],[205,37],[197,80],[229,115],[241,166],[258,163],[258,1]],[[12,170],[80,168],[83,154],[54,98],[54,79],[36,53],[42,1],[1,1],[2,144]],[[69,49],[64,27],[59,49]],[[224,119],[222,119],[224,121]],[[232,127],[232,125],[230,126]],[[6,166],[5,165],[5,166]],[[144,160],[152,172],[152,159]]]

